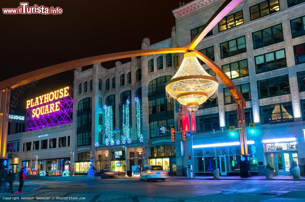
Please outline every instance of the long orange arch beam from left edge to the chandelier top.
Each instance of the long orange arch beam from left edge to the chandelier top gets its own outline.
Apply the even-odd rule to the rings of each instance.
[[[49,67],[41,68],[38,70],[30,71],[22,75],[15,76],[13,78],[6,79],[0,82],[0,89],[5,89],[6,87],[15,88],[19,83],[27,83],[29,79],[41,79],[48,76],[52,76],[64,71],[75,69],[78,67],[83,67],[90,64],[96,64],[99,62],[106,62],[111,60],[118,60],[126,57],[136,57],[143,55],[153,55],[153,54],[166,54],[166,53],[185,53],[188,50],[187,47],[182,48],[159,48],[159,49],[148,49],[148,50],[132,50],[119,53],[110,53],[104,55],[98,55],[93,57],[87,57],[83,59],[73,60],[69,62],[64,62],[60,64],[55,64]]]

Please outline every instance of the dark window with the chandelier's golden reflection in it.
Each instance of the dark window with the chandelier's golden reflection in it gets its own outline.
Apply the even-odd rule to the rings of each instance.
[[[293,121],[291,103],[260,106],[262,124],[278,124]]]

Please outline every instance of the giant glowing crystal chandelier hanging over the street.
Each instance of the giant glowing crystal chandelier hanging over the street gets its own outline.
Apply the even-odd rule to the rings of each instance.
[[[184,54],[177,73],[165,84],[167,95],[196,111],[218,89],[218,80],[210,76],[197,60],[196,53]]]

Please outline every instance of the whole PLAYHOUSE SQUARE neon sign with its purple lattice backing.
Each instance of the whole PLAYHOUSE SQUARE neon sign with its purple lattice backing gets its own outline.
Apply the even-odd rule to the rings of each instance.
[[[73,89],[69,86],[27,100],[26,130],[72,122]]]

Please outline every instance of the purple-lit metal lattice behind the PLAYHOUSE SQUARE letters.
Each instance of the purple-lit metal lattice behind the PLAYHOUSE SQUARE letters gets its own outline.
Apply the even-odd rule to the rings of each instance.
[[[26,120],[26,131],[33,131],[41,128],[57,126],[61,124],[67,124],[72,122],[73,116],[73,99],[71,97],[71,92],[73,89],[70,87],[69,96],[63,97],[61,99],[52,100],[49,103],[45,104],[55,104],[56,102],[60,102],[59,111],[55,111],[52,113],[47,113],[40,115],[39,117],[32,117],[32,110],[36,107],[44,107],[45,104],[41,104],[38,106],[30,107],[27,109],[27,120]]]

